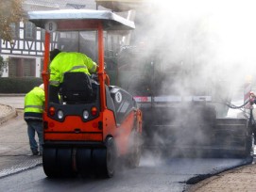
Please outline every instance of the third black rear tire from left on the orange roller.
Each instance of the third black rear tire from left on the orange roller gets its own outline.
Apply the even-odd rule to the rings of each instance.
[[[77,171],[82,177],[87,177],[92,174],[92,150],[77,149]]]

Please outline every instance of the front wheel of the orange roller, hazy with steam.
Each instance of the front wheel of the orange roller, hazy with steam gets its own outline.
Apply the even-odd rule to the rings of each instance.
[[[142,154],[142,137],[133,130],[130,135],[129,152],[128,152],[128,168],[137,168],[140,165]]]

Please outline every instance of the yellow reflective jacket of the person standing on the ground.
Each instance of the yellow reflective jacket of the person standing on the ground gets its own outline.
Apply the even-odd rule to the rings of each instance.
[[[43,120],[44,102],[45,97],[43,88],[35,87],[26,93],[24,119]]]

